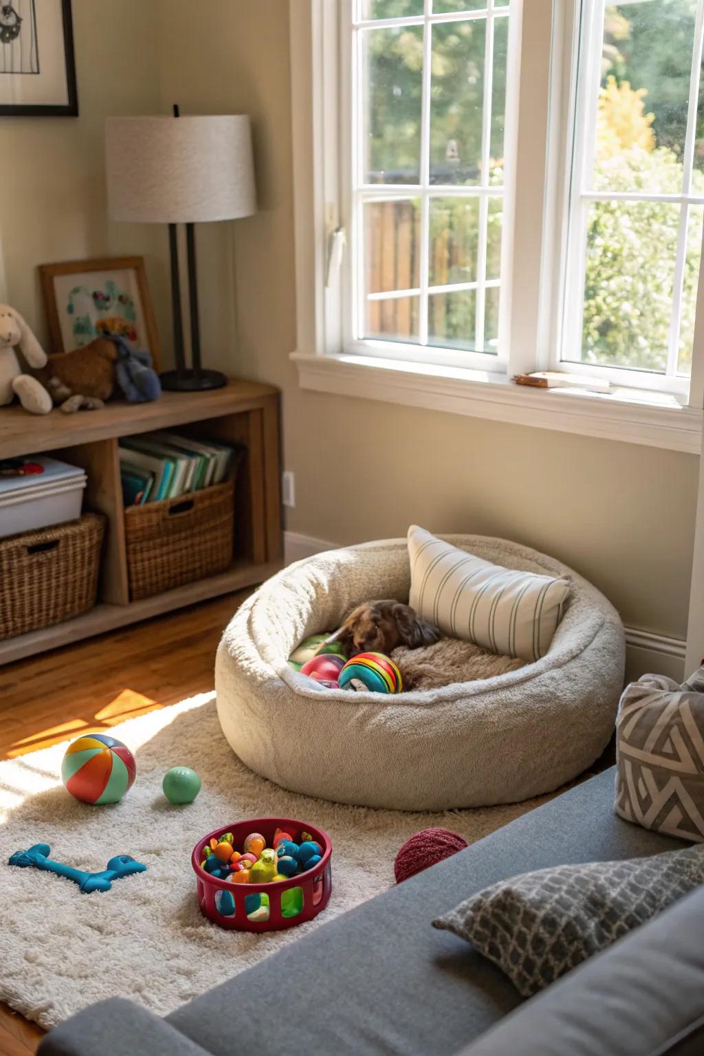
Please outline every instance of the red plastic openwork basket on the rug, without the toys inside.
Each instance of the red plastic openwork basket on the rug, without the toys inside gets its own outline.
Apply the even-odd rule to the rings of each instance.
[[[300,840],[303,831],[309,832],[323,848],[323,855],[318,865],[306,872],[299,873],[298,876],[271,884],[233,884],[230,881],[211,876],[209,872],[201,868],[203,848],[211,838],[216,838],[223,832],[232,833],[235,848],[242,847],[245,837],[250,832],[260,832],[266,840],[267,847],[271,847],[277,829],[283,829],[290,833],[296,842]],[[307,822],[296,822],[290,817],[254,817],[248,822],[223,825],[198,840],[191,855],[201,911],[220,927],[235,928],[242,931],[278,931],[303,924],[304,921],[311,921],[329,902],[332,890],[331,856],[330,837],[322,829],[317,829]],[[221,893],[223,891],[231,898],[223,895]],[[288,894],[287,892],[292,893]],[[256,921],[248,918],[245,902],[251,894],[267,895],[269,901],[268,920]],[[301,900],[303,904],[299,908]]]

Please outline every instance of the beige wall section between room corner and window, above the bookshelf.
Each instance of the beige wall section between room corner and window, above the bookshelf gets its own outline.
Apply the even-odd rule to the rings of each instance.
[[[196,230],[204,361],[293,386],[287,0],[156,0],[164,109],[252,118],[259,212]],[[213,32],[216,27],[216,32]]]

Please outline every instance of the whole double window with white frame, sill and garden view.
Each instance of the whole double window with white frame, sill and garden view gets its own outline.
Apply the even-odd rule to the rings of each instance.
[[[301,383],[699,452],[704,0],[291,0],[290,27]],[[546,370],[606,391],[510,384]]]

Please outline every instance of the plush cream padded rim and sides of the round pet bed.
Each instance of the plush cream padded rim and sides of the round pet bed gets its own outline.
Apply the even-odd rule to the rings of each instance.
[[[287,663],[355,605],[407,601],[405,540],[330,550],[265,583],[236,611],[215,662],[217,714],[240,758],[294,792],[398,810],[513,803],[598,757],[623,686],[624,630],[603,595],[557,561],[480,535],[442,536],[488,561],[567,574],[565,615],[536,663],[388,697],[317,687]]]

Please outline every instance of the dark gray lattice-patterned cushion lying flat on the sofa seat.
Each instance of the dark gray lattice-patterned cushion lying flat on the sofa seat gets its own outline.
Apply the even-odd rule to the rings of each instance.
[[[557,866],[495,884],[433,926],[467,939],[530,997],[702,883],[702,847]]]

